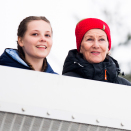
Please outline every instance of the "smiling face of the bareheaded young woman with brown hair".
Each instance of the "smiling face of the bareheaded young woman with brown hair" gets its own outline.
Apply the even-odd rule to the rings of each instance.
[[[24,36],[18,37],[26,60],[44,59],[52,47],[52,31],[49,23],[34,20],[27,24]]]

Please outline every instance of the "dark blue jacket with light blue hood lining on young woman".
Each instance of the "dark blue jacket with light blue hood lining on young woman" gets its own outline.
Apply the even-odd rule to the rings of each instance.
[[[20,58],[16,49],[5,49],[4,53],[0,56],[0,65],[31,70],[31,68]],[[44,72],[57,74],[53,71],[48,62]]]

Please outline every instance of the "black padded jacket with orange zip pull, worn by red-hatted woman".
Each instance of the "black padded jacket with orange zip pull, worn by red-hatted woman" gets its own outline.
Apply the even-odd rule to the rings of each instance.
[[[107,80],[105,80],[105,70]],[[92,64],[84,60],[83,55],[76,49],[69,51],[62,72],[63,75],[67,76],[131,86],[131,83],[128,80],[118,76],[119,73],[119,65],[111,56],[108,56],[108,59],[105,59],[101,63]]]

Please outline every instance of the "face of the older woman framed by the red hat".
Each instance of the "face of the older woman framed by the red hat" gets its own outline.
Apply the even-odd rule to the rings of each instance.
[[[91,29],[83,37],[80,53],[89,63],[104,61],[108,53],[108,40],[106,33],[101,29]]]

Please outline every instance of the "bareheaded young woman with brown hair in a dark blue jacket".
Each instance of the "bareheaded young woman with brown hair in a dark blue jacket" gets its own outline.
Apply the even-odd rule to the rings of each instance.
[[[29,16],[18,27],[18,49],[5,49],[0,65],[56,74],[47,55],[52,47],[52,28],[46,17]]]

